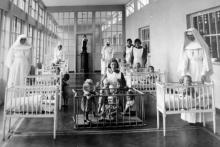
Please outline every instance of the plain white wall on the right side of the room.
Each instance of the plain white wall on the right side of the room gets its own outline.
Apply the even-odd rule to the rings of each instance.
[[[215,6],[220,6],[219,0],[150,0],[150,4],[126,18],[126,38],[135,39],[138,28],[150,26],[151,63],[167,73],[168,81],[177,81],[186,15]],[[217,108],[220,108],[219,73],[220,65],[214,65]]]

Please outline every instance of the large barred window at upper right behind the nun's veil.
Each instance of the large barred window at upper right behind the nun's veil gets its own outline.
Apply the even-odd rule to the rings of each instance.
[[[211,57],[220,62],[220,7],[190,15],[190,24],[204,37]]]

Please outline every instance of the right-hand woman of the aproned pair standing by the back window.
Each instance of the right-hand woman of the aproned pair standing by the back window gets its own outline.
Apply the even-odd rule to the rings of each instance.
[[[133,67],[135,67],[138,63],[141,64],[141,67],[144,67],[147,62],[147,50],[141,46],[141,40],[135,39],[135,46],[132,50],[133,56]]]

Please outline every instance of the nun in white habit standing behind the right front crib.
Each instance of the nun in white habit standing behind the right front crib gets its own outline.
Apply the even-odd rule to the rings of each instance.
[[[213,69],[209,47],[195,28],[190,28],[184,33],[178,72],[181,76],[190,75],[193,82],[210,81]],[[210,120],[209,116],[205,116],[206,121]],[[189,123],[202,122],[202,115],[199,113],[182,113],[181,118]]]

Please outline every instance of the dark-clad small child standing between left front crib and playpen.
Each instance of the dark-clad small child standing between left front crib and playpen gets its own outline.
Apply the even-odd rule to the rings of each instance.
[[[63,79],[62,79],[62,96],[63,96],[63,101],[64,101],[64,107],[68,105],[68,81],[70,79],[69,74],[64,74]]]

